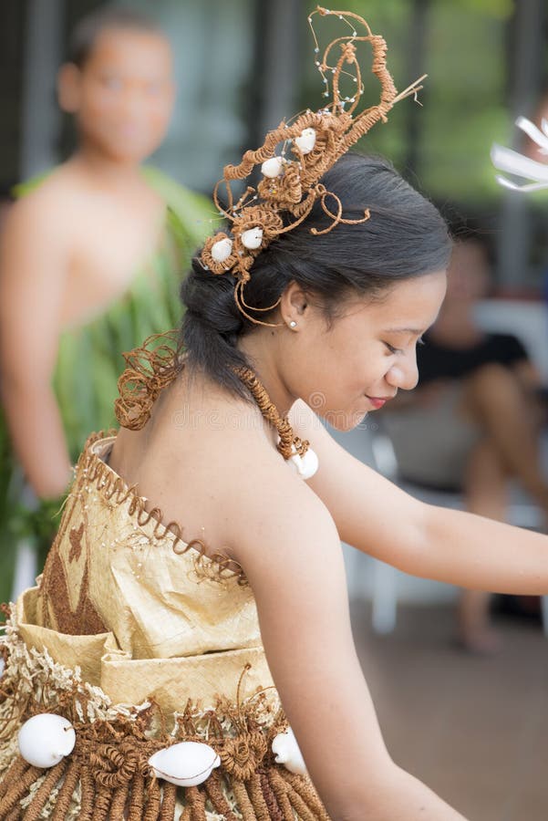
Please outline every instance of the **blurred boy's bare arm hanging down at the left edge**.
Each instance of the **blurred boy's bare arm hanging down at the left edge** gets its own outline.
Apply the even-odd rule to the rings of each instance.
[[[14,449],[36,494],[47,498],[62,494],[70,478],[51,388],[67,259],[55,215],[36,209],[31,196],[16,203],[3,226],[0,373]]]

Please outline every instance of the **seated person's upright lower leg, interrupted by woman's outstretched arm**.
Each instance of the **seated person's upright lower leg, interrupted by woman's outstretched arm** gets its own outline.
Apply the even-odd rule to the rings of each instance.
[[[464,496],[470,513],[504,520],[508,475],[496,446],[480,442],[470,453],[464,475]],[[491,653],[501,646],[491,628],[491,594],[482,590],[462,590],[458,606],[458,636],[467,650]]]

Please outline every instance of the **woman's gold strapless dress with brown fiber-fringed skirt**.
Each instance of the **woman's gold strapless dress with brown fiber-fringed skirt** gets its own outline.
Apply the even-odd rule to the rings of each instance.
[[[89,438],[44,573],[8,614],[0,818],[328,821],[307,776],[274,760],[287,722],[251,588],[145,510],[109,467],[114,439]],[[76,731],[50,769],[17,744],[43,712]],[[200,785],[148,763],[184,741],[221,759]]]

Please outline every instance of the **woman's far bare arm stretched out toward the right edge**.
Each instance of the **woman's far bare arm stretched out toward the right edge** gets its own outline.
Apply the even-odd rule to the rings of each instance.
[[[302,404],[302,403],[301,403]],[[500,593],[548,593],[548,537],[423,504],[359,462],[299,409],[319,470],[308,484],[349,545],[415,576]],[[365,435],[365,434],[364,434]]]

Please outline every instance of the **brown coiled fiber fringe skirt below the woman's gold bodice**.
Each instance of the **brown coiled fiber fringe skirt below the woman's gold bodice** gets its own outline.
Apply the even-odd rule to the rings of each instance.
[[[5,625],[0,679],[0,818],[4,821],[329,821],[310,780],[274,762],[271,744],[287,727],[273,689],[245,701],[188,701],[166,717],[158,704],[112,704],[46,650],[27,648],[15,619]],[[243,670],[243,675],[245,670]],[[48,770],[21,758],[17,732],[38,712],[65,716],[74,751]],[[221,766],[201,785],[156,778],[148,760],[171,743],[207,742]]]

